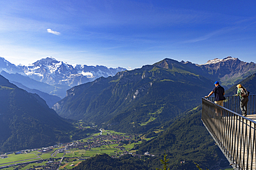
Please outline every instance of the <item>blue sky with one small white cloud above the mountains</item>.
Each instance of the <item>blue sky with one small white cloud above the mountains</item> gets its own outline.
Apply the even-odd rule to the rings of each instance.
[[[256,63],[256,1],[0,1],[0,56],[134,69],[165,58]]]

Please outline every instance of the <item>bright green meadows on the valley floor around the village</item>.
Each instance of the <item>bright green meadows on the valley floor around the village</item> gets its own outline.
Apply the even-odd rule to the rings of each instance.
[[[118,135],[118,136],[128,137],[126,136],[126,134],[118,133],[116,131],[105,131],[105,130],[102,131],[102,136],[107,136],[109,134],[113,134],[115,136]],[[93,137],[97,137],[97,136],[100,136],[100,133],[93,134],[93,136],[89,138],[83,138],[77,141],[87,142],[93,139]],[[144,138],[144,139],[149,140],[149,138],[148,139]],[[107,141],[116,141],[116,140],[112,139],[112,140],[104,140],[104,141],[107,142]],[[131,149],[134,148],[134,145],[139,144],[141,142],[142,142],[141,140],[138,142],[132,142],[132,143],[129,142],[127,144],[123,144],[122,148],[124,149],[124,151],[129,151],[134,153],[136,152],[136,150],[131,150]],[[84,147],[88,147],[88,146],[84,145]],[[124,153],[124,151],[121,150],[120,147],[118,147],[118,144],[116,143],[111,145],[102,145],[100,147],[91,147],[90,149],[73,148],[73,149],[66,150],[64,153],[58,153],[57,149],[62,149],[62,148],[64,148],[64,145],[58,148],[53,148],[53,150],[51,151],[42,152],[42,153],[39,151],[31,151],[30,153],[21,153],[21,154],[12,153],[8,155],[8,158],[3,158],[3,159],[0,158],[0,168],[8,164],[28,162],[28,164],[5,168],[5,169],[15,169],[19,167],[19,169],[23,170],[23,169],[28,169],[30,167],[42,166],[46,164],[49,160],[59,162],[61,158],[64,158],[59,169],[72,169],[75,165],[82,162],[82,160],[79,160],[79,159],[90,158],[97,154],[102,154],[102,153],[107,153],[109,156],[120,156],[122,153]],[[42,161],[40,161],[39,163],[36,163],[36,162],[29,163],[29,161],[33,161],[33,160],[42,160]]]

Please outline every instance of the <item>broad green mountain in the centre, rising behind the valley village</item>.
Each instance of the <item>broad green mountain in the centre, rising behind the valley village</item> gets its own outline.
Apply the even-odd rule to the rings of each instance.
[[[73,87],[53,108],[64,118],[105,129],[147,131],[199,105],[213,88],[212,81],[183,69],[178,61],[168,65],[145,65]]]

